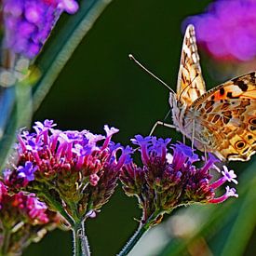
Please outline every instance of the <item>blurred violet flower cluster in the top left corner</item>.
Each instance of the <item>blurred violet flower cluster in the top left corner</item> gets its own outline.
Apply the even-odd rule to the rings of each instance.
[[[4,0],[4,46],[33,59],[43,47],[61,12],[74,13],[75,0]]]

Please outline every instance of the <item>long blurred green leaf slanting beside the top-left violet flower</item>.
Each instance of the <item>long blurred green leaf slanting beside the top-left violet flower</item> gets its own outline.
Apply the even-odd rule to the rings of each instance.
[[[69,19],[61,32],[55,36],[44,55],[35,63],[39,67],[42,77],[34,88],[34,111],[44,100],[49,88],[56,80],[61,69],[72,56],[101,12],[111,0],[83,0],[78,13]]]

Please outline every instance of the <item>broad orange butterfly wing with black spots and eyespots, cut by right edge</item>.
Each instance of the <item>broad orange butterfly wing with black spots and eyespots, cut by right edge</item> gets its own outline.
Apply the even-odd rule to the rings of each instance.
[[[236,77],[190,107],[196,114],[195,138],[221,159],[247,161],[256,152],[255,80],[255,72]]]

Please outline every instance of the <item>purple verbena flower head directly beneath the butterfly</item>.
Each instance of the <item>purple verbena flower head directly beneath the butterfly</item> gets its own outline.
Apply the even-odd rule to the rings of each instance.
[[[233,170],[223,167],[222,177],[212,182],[210,170],[219,171],[215,167],[218,161],[209,154],[204,166],[195,167],[200,161],[198,155],[182,143],[171,144],[172,154],[168,153],[170,139],[135,136],[132,142],[139,145],[141,164],[133,161],[127,163],[120,175],[123,189],[127,195],[138,197],[143,209],[142,222],[155,216],[153,222],[158,222],[165,213],[193,203],[222,203],[230,196],[236,195],[234,188],[226,187],[226,193],[216,196],[216,189],[225,182],[236,182]],[[197,163],[196,163],[197,165]]]

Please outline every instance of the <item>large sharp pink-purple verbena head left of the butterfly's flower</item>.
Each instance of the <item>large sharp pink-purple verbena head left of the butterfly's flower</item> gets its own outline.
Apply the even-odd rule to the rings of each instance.
[[[4,181],[13,191],[35,193],[51,209],[61,205],[72,219],[94,217],[114,193],[130,149],[111,141],[116,128],[105,126],[102,136],[55,126],[46,120],[35,122],[34,132],[20,132],[18,162],[5,170]]]

